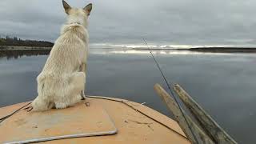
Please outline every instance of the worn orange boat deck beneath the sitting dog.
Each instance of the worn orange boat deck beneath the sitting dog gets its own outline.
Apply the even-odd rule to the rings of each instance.
[[[21,109],[0,123],[0,142],[76,134],[81,138],[66,137],[46,143],[190,143],[177,122],[142,104],[93,96],[86,102],[90,106],[81,102],[67,109],[39,113]],[[22,106],[26,108],[28,103],[0,108],[0,118]]]

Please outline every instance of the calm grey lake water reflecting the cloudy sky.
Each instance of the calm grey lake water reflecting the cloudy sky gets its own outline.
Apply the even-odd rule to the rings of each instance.
[[[182,85],[238,142],[256,142],[255,54],[159,50],[155,55],[169,81]],[[0,58],[0,106],[37,96],[35,78],[47,56],[15,57]],[[146,102],[170,115],[154,93],[154,84],[164,82],[147,51],[92,49],[86,78],[87,94]]]

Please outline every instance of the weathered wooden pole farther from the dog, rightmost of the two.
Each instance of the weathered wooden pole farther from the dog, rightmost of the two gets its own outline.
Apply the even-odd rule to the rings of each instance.
[[[209,114],[206,113],[205,110],[202,109],[201,106],[198,105],[197,102],[194,101],[193,98],[190,97],[189,94],[186,93],[185,90],[182,89],[181,86],[176,84],[174,86],[175,92],[178,94],[179,98],[182,99],[182,102],[189,108],[191,114],[194,115],[194,118],[198,120],[198,123],[202,127],[202,129],[206,132],[207,135],[210,136],[211,139],[216,143],[234,143],[233,138],[230,137],[229,134],[226,133],[222,129],[221,126],[218,126],[218,123],[214,121],[213,118],[210,117]]]

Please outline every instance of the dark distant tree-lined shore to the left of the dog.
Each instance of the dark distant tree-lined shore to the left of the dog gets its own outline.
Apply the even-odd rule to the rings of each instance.
[[[47,41],[36,41],[36,40],[23,40],[21,38],[0,38],[0,46],[38,46],[38,47],[52,47],[54,46],[53,42]]]

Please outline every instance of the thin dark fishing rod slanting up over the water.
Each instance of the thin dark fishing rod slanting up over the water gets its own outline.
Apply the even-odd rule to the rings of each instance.
[[[173,90],[171,90],[171,88],[170,88],[170,85],[172,85],[172,83],[169,84],[169,82],[167,81],[166,76],[165,76],[165,74],[163,74],[162,69],[161,69],[161,67],[159,66],[159,63],[158,63],[157,59],[154,57],[154,54],[152,53],[152,50],[150,49],[150,46],[148,46],[148,44],[147,44],[147,42],[146,42],[146,40],[145,40],[144,38],[143,38],[143,41],[145,42],[145,44],[146,44],[148,50],[150,51],[150,54],[151,54],[152,58],[154,58],[154,62],[155,62],[155,64],[158,66],[158,70],[159,70],[160,73],[162,74],[162,78],[163,78],[164,81],[166,82],[166,85],[167,85],[168,89],[170,90],[170,94],[173,95],[174,100],[175,100],[175,102],[176,102],[177,105],[178,105],[178,109],[179,109],[179,110],[181,111],[181,113],[182,113],[182,117],[185,119],[187,126],[189,126],[190,132],[191,132],[191,134],[193,134],[194,140],[195,140],[197,143],[199,143],[199,142],[198,142],[198,139],[196,138],[196,136],[195,136],[194,133],[193,133],[193,130],[192,130],[191,127],[190,127],[189,122],[187,121],[187,119],[186,119],[186,117],[185,117],[185,114],[184,114],[184,112],[183,112],[183,110],[182,110],[182,106],[180,106],[180,104],[178,103],[178,98],[175,97],[175,94],[174,94]]]

